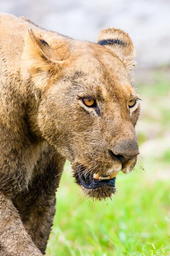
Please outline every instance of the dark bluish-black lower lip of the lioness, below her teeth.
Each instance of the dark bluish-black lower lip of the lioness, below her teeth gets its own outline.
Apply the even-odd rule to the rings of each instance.
[[[78,175],[76,176],[77,183],[82,184],[86,189],[96,189],[103,186],[115,187],[116,178],[112,178],[111,180],[94,180],[93,174],[85,175],[83,172],[83,168],[80,167],[78,171]]]

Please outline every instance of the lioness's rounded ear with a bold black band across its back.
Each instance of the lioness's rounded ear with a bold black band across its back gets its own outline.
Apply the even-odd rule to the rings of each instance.
[[[97,44],[103,45],[113,51],[124,63],[127,70],[131,70],[135,66],[133,58],[135,57],[135,49],[133,43],[127,33],[120,29],[103,29],[97,38]]]

